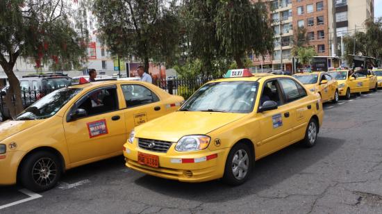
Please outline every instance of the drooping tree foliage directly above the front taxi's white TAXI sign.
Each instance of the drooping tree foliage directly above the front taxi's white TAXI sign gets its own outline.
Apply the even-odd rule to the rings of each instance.
[[[190,40],[190,56],[199,58],[206,74],[215,60],[243,60],[252,51],[256,56],[272,53],[274,31],[265,3],[248,0],[185,1],[184,18]]]

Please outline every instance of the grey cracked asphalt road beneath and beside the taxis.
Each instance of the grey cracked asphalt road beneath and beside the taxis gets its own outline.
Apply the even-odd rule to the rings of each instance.
[[[239,187],[158,179],[119,157],[70,170],[58,188],[0,213],[382,213],[382,90],[352,98],[325,105],[315,147],[263,158]],[[27,199],[20,189],[0,187],[0,208]]]

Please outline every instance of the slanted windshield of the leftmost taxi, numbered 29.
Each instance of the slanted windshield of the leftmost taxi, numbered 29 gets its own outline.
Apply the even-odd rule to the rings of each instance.
[[[15,120],[38,120],[51,117],[81,90],[80,88],[62,88],[51,92],[26,108],[17,115]]]

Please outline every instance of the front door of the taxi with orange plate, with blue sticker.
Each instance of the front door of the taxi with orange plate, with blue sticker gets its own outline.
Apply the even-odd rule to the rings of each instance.
[[[265,92],[269,90],[265,88],[269,88],[272,94],[266,94]],[[271,100],[278,104],[278,108],[257,114],[261,131],[260,136],[258,136],[260,141],[257,142],[256,153],[260,157],[281,149],[292,140],[290,138],[292,131],[291,108],[284,104],[283,94],[277,79],[265,82],[261,93],[259,106],[263,105],[263,101]]]

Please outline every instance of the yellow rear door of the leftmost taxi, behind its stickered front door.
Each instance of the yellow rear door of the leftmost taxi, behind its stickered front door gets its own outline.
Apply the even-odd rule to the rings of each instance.
[[[121,84],[122,99],[125,103],[124,117],[127,134],[135,126],[144,124],[167,113],[167,106],[160,102],[153,90],[139,83]]]

